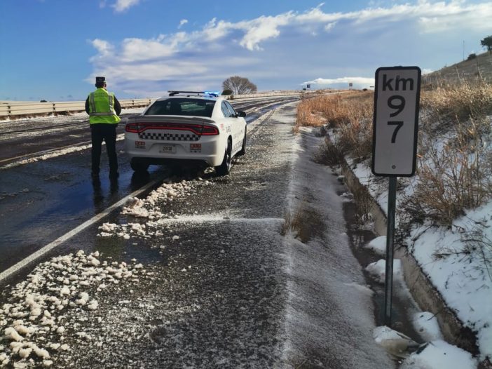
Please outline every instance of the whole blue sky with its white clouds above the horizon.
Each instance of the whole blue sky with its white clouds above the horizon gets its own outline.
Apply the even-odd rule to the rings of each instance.
[[[98,75],[119,99],[233,75],[363,88],[378,67],[437,70],[492,34],[481,0],[1,0],[0,13],[0,100],[85,100]]]

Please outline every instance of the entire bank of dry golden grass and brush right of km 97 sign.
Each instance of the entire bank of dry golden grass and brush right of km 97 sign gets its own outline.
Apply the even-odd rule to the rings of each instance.
[[[466,209],[492,196],[492,86],[479,81],[439,86],[422,94],[414,199],[406,199],[416,219],[450,225]],[[446,137],[448,137],[446,139]],[[436,142],[442,142],[436,147]]]

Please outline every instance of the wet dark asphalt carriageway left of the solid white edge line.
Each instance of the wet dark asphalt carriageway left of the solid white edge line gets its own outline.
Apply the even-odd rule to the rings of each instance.
[[[266,98],[235,102],[254,122],[279,104],[295,98]],[[125,118],[135,112],[123,112]],[[118,134],[124,124],[118,125]],[[168,170],[153,166],[149,177],[135,176],[123,152],[123,140],[116,145],[120,177],[108,180],[107,156],[101,156],[101,183],[90,180],[90,130],[86,114],[0,123],[0,272],[48,245],[71,229],[101,213],[118,200],[149,182],[164,180]],[[81,147],[48,160],[42,154]]]

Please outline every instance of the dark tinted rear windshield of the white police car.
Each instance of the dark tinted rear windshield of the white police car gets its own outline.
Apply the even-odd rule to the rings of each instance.
[[[215,100],[172,98],[158,100],[149,107],[145,115],[212,116]]]

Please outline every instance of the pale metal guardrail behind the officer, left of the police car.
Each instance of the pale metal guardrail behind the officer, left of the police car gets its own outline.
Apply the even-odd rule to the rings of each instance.
[[[147,107],[154,99],[119,100],[123,109]],[[19,116],[40,116],[49,114],[67,114],[84,112],[85,101],[70,102],[15,102],[0,101],[0,119],[10,119]]]

